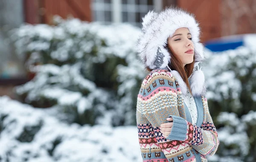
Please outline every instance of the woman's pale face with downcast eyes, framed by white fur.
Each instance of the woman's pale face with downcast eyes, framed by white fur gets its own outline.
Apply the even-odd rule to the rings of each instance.
[[[188,28],[178,28],[172,37],[168,38],[168,45],[179,57],[183,66],[194,60],[194,45]]]

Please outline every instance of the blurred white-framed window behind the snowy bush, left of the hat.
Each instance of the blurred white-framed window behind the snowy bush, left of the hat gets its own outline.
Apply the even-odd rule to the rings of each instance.
[[[92,0],[93,21],[128,22],[141,26],[149,10],[160,11],[162,0]]]

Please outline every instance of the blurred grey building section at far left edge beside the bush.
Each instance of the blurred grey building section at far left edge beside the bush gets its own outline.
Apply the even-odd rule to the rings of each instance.
[[[28,81],[23,65],[14,45],[9,43],[9,31],[24,22],[22,0],[0,0],[0,96],[13,96],[15,85]]]

